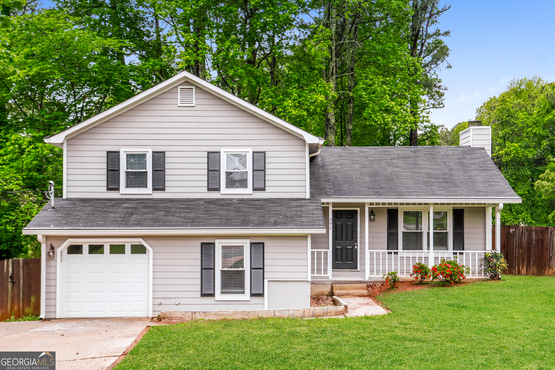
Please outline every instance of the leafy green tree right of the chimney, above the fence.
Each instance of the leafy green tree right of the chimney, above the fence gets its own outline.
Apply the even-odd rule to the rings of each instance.
[[[555,83],[541,78],[513,80],[506,92],[477,109],[482,125],[492,126],[492,159],[522,204],[501,211],[506,225],[552,226],[555,198],[541,180],[555,150]],[[553,101],[552,101],[553,100]],[[549,174],[543,181],[549,182]]]

